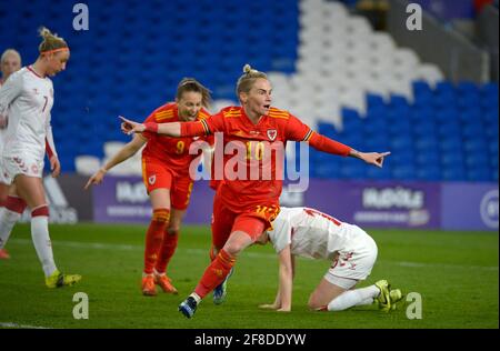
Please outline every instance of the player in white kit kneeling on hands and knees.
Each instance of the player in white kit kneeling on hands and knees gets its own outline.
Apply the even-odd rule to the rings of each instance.
[[[332,262],[309,298],[311,310],[342,311],[378,301],[389,311],[402,299],[401,290],[391,290],[387,280],[353,289],[370,275],[378,252],[373,239],[361,228],[309,208],[281,208],[272,225],[258,243],[271,241],[279,254],[279,289],[274,302],[260,308],[291,310],[294,255]]]

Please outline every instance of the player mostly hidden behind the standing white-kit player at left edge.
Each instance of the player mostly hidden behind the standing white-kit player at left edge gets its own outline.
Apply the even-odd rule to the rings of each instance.
[[[0,69],[2,77],[0,78],[0,88],[6,83],[9,77],[21,69],[21,56],[13,49],[7,49],[3,51],[0,58]],[[0,154],[3,153],[3,139],[7,130],[8,118],[0,117]],[[1,169],[0,169],[1,172]],[[9,194],[9,185],[1,181],[0,177],[0,212],[3,211],[3,207],[7,203],[7,197]],[[0,260],[9,259],[10,254],[6,249],[0,249]]]

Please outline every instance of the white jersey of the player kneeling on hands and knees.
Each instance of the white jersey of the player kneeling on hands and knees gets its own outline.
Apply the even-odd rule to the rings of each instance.
[[[311,259],[332,260],[368,237],[357,225],[309,208],[281,208],[272,227],[268,234],[277,252],[290,244],[292,254]]]

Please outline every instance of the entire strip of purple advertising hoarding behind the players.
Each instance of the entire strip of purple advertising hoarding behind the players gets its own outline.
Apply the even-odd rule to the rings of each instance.
[[[308,205],[363,228],[498,230],[498,184],[339,181],[311,179],[304,193],[287,192],[287,207]],[[213,191],[194,182],[184,223],[209,224]],[[93,188],[93,219],[147,223],[151,205],[139,177],[108,177]]]

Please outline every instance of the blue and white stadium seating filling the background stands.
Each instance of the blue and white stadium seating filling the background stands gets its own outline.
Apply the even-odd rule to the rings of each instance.
[[[211,111],[236,104],[234,82],[249,62],[269,72],[274,106],[357,149],[392,152],[378,170],[311,151],[312,177],[498,181],[498,83],[444,81],[436,66],[341,2],[86,3],[90,31],[72,30],[73,4],[64,0],[32,0],[13,11],[22,16],[0,7],[4,44],[24,64],[36,59],[39,26],[71,47],[68,70],[54,78],[52,111],[64,171],[102,164],[130,140],[117,116],[144,119],[174,99],[183,77],[212,90]],[[140,174],[139,162],[137,156],[113,172]]]

